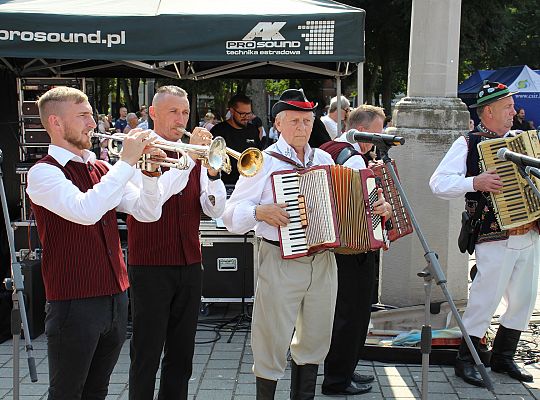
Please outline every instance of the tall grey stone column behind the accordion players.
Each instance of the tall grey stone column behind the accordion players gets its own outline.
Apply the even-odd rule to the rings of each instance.
[[[406,143],[390,153],[454,300],[467,298],[467,257],[457,248],[464,203],[436,198],[429,178],[453,141],[468,130],[469,112],[457,98],[460,14],[461,0],[413,0],[407,97],[393,115],[395,134]],[[416,274],[425,266],[416,234],[392,244],[382,260],[381,302],[422,304],[423,280]],[[443,300],[434,286],[432,302]]]

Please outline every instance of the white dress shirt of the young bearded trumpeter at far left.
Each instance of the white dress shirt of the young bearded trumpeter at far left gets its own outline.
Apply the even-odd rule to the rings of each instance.
[[[96,155],[89,150],[84,150],[81,158],[52,144],[48,153],[62,166],[70,160],[84,164],[93,164],[96,160]],[[81,192],[59,168],[39,163],[28,171],[26,193],[35,204],[81,225],[95,224],[113,208],[143,222],[157,221],[161,217],[158,179],[141,174],[139,186],[131,181],[134,175],[135,167],[118,161],[114,166],[109,165],[109,171],[99,183]]]

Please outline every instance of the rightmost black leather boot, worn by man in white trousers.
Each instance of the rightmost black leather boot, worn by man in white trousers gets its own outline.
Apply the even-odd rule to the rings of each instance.
[[[505,328],[502,325],[499,326],[493,341],[491,370],[501,374],[508,374],[518,381],[532,382],[533,376],[523,368],[519,368],[514,361],[520,336],[520,331]]]

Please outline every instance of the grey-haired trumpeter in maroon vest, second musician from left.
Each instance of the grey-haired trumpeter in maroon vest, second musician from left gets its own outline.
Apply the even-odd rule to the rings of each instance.
[[[160,87],[149,112],[159,137],[179,141],[189,119],[186,91],[177,86]],[[190,143],[209,144],[211,137],[206,129],[197,127]],[[165,204],[159,221],[127,220],[133,318],[130,400],[154,398],[162,350],[158,398],[187,399],[201,301],[201,210],[217,218],[227,197],[218,171],[206,169],[200,161],[192,164],[187,185],[163,184]]]

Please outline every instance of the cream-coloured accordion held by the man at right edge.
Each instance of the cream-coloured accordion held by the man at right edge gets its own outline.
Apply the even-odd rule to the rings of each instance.
[[[520,175],[518,166],[510,161],[499,160],[497,151],[509,150],[530,157],[540,156],[537,131],[521,132],[515,137],[484,140],[478,143],[480,169],[495,169],[502,181],[502,193],[490,193],[493,211],[501,229],[511,229],[532,222],[540,217],[540,200],[527,181]],[[535,185],[540,183],[531,178]]]

